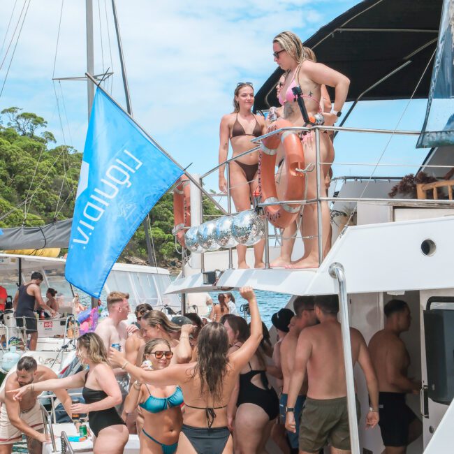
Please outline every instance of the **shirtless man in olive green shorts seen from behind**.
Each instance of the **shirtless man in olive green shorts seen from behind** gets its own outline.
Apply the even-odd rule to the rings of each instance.
[[[295,366],[288,388],[286,429],[296,432],[294,407],[307,370],[309,385],[301,413],[300,454],[317,453],[328,443],[332,454],[351,453],[337,295],[317,296],[314,309],[320,324],[305,328],[298,338]],[[366,426],[374,427],[379,422],[379,388],[374,367],[363,335],[350,328],[350,339],[353,366],[358,362],[363,369],[372,404],[366,416]],[[358,399],[356,411],[359,418]]]

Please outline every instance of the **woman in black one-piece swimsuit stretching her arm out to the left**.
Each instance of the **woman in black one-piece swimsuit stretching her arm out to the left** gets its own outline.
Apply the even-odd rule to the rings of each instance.
[[[55,389],[82,388],[85,404],[73,404],[73,413],[86,414],[93,442],[94,454],[122,454],[129,432],[120,418],[115,405],[122,403],[122,392],[115,374],[108,365],[107,353],[101,337],[94,332],[87,332],[77,341],[76,354],[88,369],[64,379],[52,379],[31,383],[15,390],[14,399],[20,400],[29,391],[47,391]]]

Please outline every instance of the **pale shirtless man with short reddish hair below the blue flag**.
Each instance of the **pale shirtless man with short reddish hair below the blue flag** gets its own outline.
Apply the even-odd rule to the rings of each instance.
[[[122,351],[125,351],[126,339],[129,333],[138,330],[136,325],[126,323],[129,314],[129,293],[118,291],[110,292],[107,297],[107,310],[109,316],[98,323],[94,331],[101,339],[105,349],[109,351],[112,344],[119,344]],[[128,395],[129,377],[123,369],[119,367],[114,369],[115,377],[122,390],[123,402]],[[117,407],[117,411],[122,414],[123,404]]]

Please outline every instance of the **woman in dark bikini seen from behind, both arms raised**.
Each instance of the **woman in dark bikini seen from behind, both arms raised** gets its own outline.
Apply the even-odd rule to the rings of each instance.
[[[180,454],[230,454],[233,443],[227,427],[227,403],[241,369],[254,356],[262,339],[262,323],[251,287],[240,288],[249,302],[251,334],[240,349],[228,354],[228,334],[220,323],[205,325],[198,335],[197,361],[147,371],[131,365],[121,352],[110,349],[110,361],[140,383],[180,386],[184,395],[183,427],[178,440]]]

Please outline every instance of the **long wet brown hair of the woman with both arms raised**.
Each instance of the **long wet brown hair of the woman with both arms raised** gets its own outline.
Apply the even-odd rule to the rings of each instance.
[[[197,349],[193,376],[200,376],[200,396],[208,390],[213,400],[220,402],[228,364],[228,335],[224,325],[217,322],[205,325],[198,335]]]

